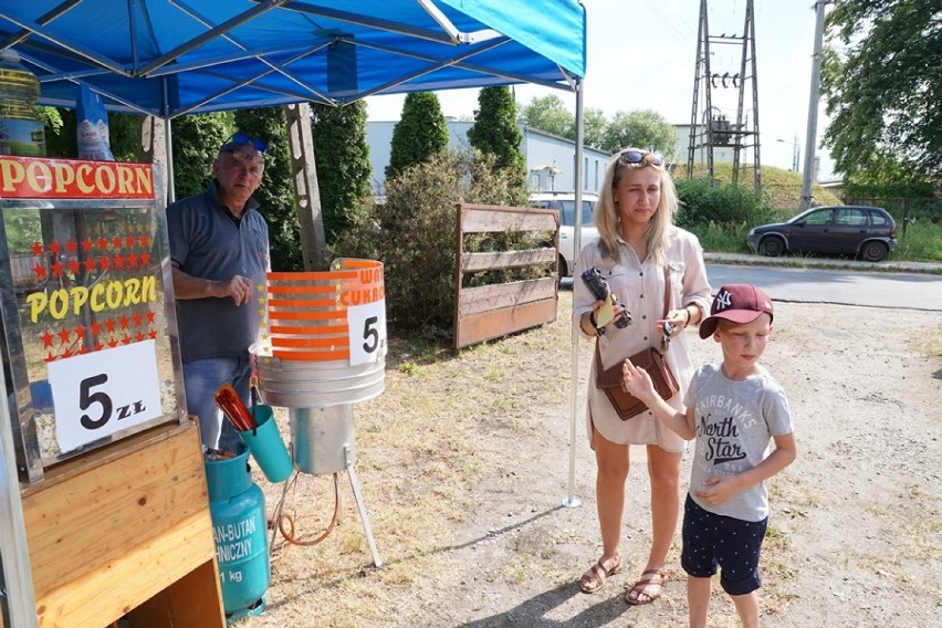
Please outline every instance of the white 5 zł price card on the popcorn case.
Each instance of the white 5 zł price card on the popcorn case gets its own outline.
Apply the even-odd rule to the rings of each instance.
[[[63,452],[163,414],[154,341],[76,355],[48,368]]]

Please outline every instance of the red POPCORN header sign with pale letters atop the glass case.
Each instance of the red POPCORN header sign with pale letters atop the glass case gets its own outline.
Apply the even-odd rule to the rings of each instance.
[[[0,156],[0,198],[153,199],[150,164]]]

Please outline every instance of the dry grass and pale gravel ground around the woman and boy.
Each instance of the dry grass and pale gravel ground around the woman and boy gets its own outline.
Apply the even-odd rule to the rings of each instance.
[[[600,552],[583,420],[590,344],[580,341],[574,396],[572,294],[561,296],[555,323],[449,359],[421,341],[393,343],[386,391],[354,407],[355,469],[384,568],[373,565],[342,473],[341,524],[314,546],[279,537],[269,607],[244,626],[685,625],[679,535],[662,598],[638,608],[624,601],[650,542],[643,464],[628,480],[622,572],[596,595],[578,590]],[[763,625],[938,622],[940,314],[775,306],[763,362],[788,393],[799,449],[771,482]],[[691,345],[694,363],[719,358],[712,341]],[[286,412],[278,417],[287,440]],[[257,478],[271,510],[282,485]],[[316,537],[333,509],[329,475],[300,475],[287,491],[285,511],[302,538]],[[724,595],[714,596],[711,616],[713,627],[737,625]]]

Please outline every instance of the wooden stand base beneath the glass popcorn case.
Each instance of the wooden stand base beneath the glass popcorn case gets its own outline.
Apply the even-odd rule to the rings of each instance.
[[[195,425],[63,462],[22,501],[43,628],[226,626]]]

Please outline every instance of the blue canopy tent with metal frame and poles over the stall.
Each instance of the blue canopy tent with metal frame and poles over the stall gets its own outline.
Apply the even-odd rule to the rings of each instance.
[[[82,82],[111,111],[166,121],[489,85],[569,91],[576,95],[579,205],[586,18],[577,0],[0,0],[0,50],[8,48],[39,77],[39,104],[74,106]],[[578,503],[576,333],[569,505]],[[15,470],[7,479],[9,495],[18,491]],[[3,505],[0,546],[24,547],[21,526],[7,521]],[[15,553],[2,558],[8,584],[31,582]],[[24,621],[12,625],[31,625],[29,587],[8,590],[19,592],[8,601],[11,616]]]

